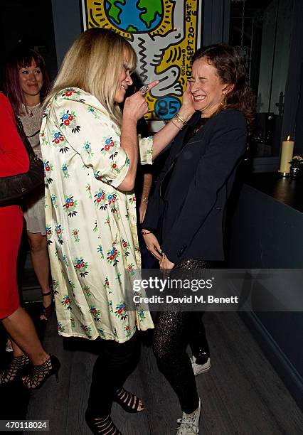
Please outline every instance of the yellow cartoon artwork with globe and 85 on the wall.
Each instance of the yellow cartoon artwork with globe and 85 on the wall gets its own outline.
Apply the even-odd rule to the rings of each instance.
[[[136,50],[141,84],[160,80],[147,96],[147,119],[171,119],[181,106],[191,55],[200,46],[201,0],[83,0],[83,27],[119,32]]]

